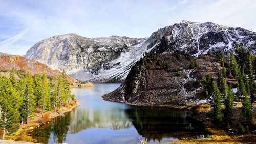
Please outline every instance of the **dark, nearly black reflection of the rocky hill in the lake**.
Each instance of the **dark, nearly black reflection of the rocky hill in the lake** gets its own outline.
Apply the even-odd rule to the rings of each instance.
[[[203,130],[202,125],[184,111],[166,108],[132,107],[126,110],[138,133],[147,141],[159,142],[164,137],[175,137],[182,133],[195,133]]]

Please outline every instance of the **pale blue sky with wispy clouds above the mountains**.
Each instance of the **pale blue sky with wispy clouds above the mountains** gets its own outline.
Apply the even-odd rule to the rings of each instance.
[[[24,55],[42,39],[69,33],[88,38],[150,37],[182,20],[256,32],[256,1],[0,0],[0,52]]]

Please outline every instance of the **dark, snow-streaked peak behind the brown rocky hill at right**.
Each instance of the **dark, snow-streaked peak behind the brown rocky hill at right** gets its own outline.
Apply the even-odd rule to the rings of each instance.
[[[194,56],[207,53],[229,53],[243,44],[255,53],[256,33],[243,28],[232,28],[212,22],[182,21],[154,32],[151,37],[160,43],[153,49],[158,53],[185,51]],[[153,44],[154,45],[154,42]]]

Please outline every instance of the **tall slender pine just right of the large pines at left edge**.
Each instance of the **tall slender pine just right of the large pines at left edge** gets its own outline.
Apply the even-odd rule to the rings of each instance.
[[[30,74],[27,74],[25,78],[25,93],[23,98],[23,107],[26,112],[26,123],[29,122],[29,117],[34,116],[35,112],[35,95],[34,95],[34,83]]]

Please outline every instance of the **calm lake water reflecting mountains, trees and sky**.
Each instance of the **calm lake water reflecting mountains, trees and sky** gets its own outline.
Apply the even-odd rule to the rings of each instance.
[[[203,126],[190,113],[129,106],[101,98],[119,85],[72,88],[81,105],[31,134],[39,143],[166,143],[181,137],[197,138],[203,133]]]

